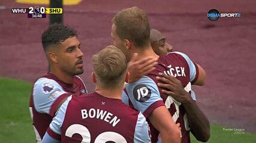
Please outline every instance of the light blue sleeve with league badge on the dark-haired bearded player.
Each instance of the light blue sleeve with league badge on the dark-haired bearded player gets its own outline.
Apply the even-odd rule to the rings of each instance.
[[[42,77],[37,80],[33,88],[35,110],[39,113],[50,114],[50,108],[55,100],[67,92],[55,80]]]

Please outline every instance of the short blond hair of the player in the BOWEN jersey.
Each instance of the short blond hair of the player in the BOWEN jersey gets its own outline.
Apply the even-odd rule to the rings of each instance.
[[[92,64],[101,86],[114,87],[125,81],[127,60],[122,51],[115,46],[107,46],[93,55]]]

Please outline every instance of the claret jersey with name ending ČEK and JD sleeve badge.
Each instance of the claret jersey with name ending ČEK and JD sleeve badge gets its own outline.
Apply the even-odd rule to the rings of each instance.
[[[176,123],[180,123],[182,142],[190,142],[189,125],[183,105],[171,96],[162,94],[158,88],[156,76],[158,73],[170,74],[182,82],[185,91],[191,93],[191,83],[198,78],[198,67],[187,55],[181,52],[170,52],[158,58],[156,69],[134,83],[129,83],[123,92],[122,99],[136,110],[141,111],[145,117],[155,108],[165,105]],[[128,98],[127,98],[128,97]],[[195,97],[192,95],[195,100]],[[149,123],[150,125],[150,123]],[[150,125],[152,142],[158,140],[158,130]]]

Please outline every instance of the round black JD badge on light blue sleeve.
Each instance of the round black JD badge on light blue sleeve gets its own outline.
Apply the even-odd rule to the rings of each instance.
[[[144,102],[151,97],[151,90],[146,85],[137,85],[133,89],[133,96],[138,102]]]

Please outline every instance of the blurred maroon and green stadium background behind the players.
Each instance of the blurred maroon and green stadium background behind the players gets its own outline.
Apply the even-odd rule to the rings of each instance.
[[[26,14],[12,14],[11,8],[48,4],[47,0],[0,1],[1,142],[34,142],[28,110],[31,84],[47,72],[41,33],[49,26],[49,15],[27,18]],[[255,5],[253,0],[64,0],[63,23],[79,31],[85,54],[82,79],[91,92],[91,56],[112,44],[113,15],[132,6],[145,10],[150,26],[159,29],[174,50],[185,52],[207,72],[206,85],[194,89],[198,105],[212,124],[209,142],[256,142]],[[241,13],[241,17],[213,22],[207,18],[212,8],[220,13]],[[245,129],[245,134],[235,135],[223,128]]]

